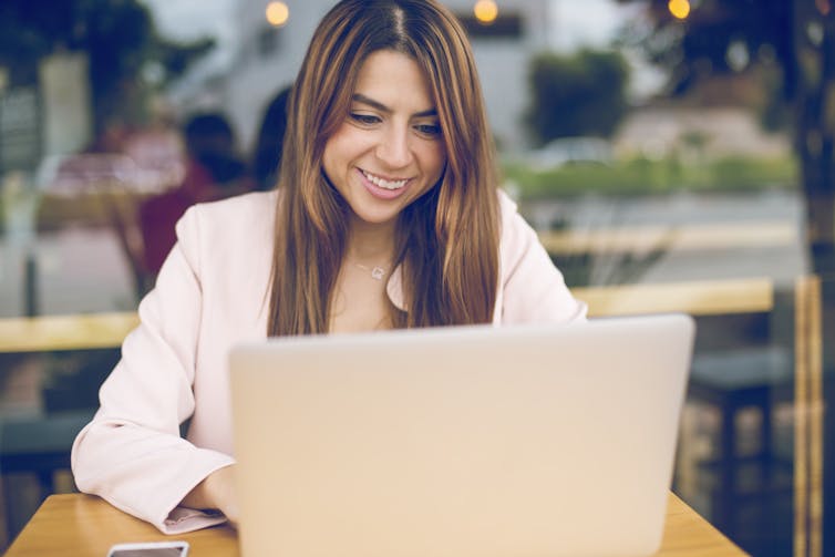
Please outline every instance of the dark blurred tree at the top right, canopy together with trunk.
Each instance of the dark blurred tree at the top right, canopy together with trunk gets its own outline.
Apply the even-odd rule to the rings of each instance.
[[[812,269],[835,271],[835,10],[831,0],[703,0],[684,21],[668,0],[617,0],[641,6],[648,18],[625,30],[622,44],[642,47],[684,93],[717,74],[764,71],[761,120],[794,135],[802,165]],[[729,55],[741,52],[743,56]],[[714,80],[715,81],[715,80]],[[749,103],[750,104],[750,103]],[[731,168],[733,168],[731,171]],[[735,173],[732,165],[725,171]]]

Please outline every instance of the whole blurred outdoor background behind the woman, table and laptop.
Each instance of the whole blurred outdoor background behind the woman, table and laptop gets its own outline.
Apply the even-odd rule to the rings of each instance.
[[[591,314],[697,318],[673,491],[752,555],[834,555],[835,2],[444,3],[503,187]],[[178,216],[272,186],[331,6],[0,3],[0,550],[74,489]]]

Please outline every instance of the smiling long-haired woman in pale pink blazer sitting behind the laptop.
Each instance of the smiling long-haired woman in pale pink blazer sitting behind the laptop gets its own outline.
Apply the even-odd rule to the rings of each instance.
[[[198,205],[177,225],[73,447],[82,491],[166,533],[237,518],[234,343],[585,317],[497,193],[473,56],[435,1],[341,1],[288,114],[277,192]]]

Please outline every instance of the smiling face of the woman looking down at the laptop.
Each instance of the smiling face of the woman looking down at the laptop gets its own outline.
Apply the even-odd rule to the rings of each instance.
[[[418,63],[381,50],[365,59],[348,117],[324,144],[322,165],[355,218],[391,224],[441,179],[446,148]]]

